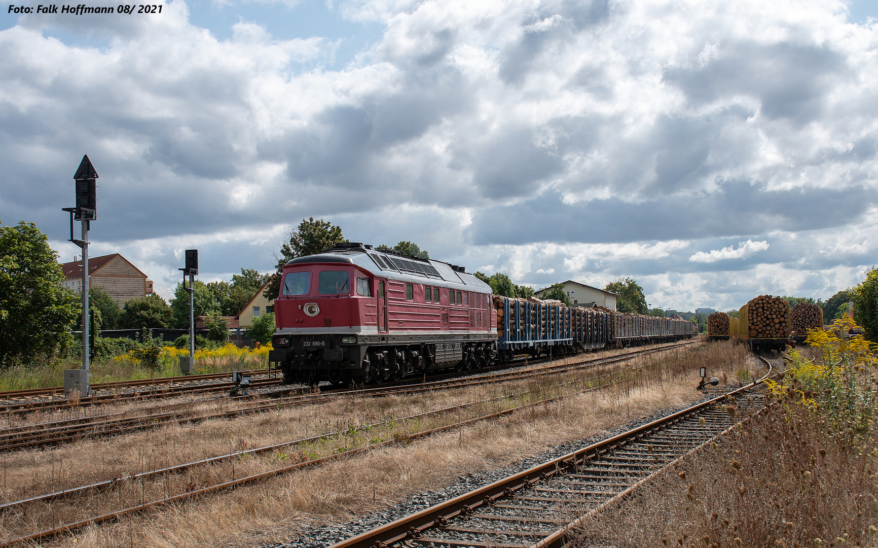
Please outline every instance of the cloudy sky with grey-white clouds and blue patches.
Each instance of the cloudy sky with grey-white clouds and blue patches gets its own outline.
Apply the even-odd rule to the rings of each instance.
[[[827,299],[878,263],[871,0],[2,17],[0,220],[73,260],[61,207],[88,154],[90,254],[165,298],[184,249],[204,281],[273,270],[311,216],[519,284],[635,278],[678,310]]]

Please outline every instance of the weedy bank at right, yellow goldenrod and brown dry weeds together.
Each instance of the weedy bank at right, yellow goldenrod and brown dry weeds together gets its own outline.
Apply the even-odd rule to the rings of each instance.
[[[585,516],[582,546],[874,546],[878,525],[875,346],[809,335],[769,405],[660,473],[621,506]]]

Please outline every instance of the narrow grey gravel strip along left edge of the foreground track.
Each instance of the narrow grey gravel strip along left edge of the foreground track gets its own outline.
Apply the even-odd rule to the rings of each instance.
[[[733,385],[717,388],[710,387],[709,390],[706,390],[704,392],[704,397],[702,398],[702,401],[716,398],[716,396],[730,392],[730,390],[733,390],[735,388],[737,388],[737,386]],[[622,434],[623,432],[627,432],[630,429],[637,428],[638,426],[642,426],[648,422],[658,420],[666,415],[671,415],[672,413],[676,413],[677,411],[693,406],[694,403],[695,402],[692,402],[682,407],[668,407],[666,409],[661,409],[660,411],[652,415],[642,417],[630,422],[625,422],[624,424],[620,424],[614,429],[605,430],[604,432],[601,432],[601,434],[589,436],[587,438],[569,443],[562,443],[560,445],[552,447],[549,451],[543,451],[542,453],[535,455],[534,457],[525,458],[521,461],[518,461],[514,465],[506,466],[503,468],[496,468],[493,470],[487,470],[485,472],[464,474],[457,479],[457,482],[447,487],[414,494],[408,497],[406,501],[403,501],[396,506],[383,508],[377,512],[370,513],[368,516],[363,516],[362,518],[356,519],[349,523],[339,523],[327,528],[312,528],[303,530],[299,533],[299,538],[293,540],[290,543],[266,544],[264,546],[265,548],[320,548],[323,546],[329,546],[346,538],[354,537],[365,531],[372,530],[385,523],[390,523],[401,517],[406,517],[414,514],[414,512],[417,512],[421,509],[429,508],[443,501],[448,501],[460,494],[469,493],[474,489],[486,486],[490,483],[493,483],[494,481],[497,481],[498,479],[506,478],[507,476],[510,476],[517,472],[522,472],[524,470],[532,468],[533,466],[540,465],[548,460],[563,457],[567,453],[576,451],[582,447],[591,445],[592,443],[600,442],[601,440],[607,439],[608,437]]]

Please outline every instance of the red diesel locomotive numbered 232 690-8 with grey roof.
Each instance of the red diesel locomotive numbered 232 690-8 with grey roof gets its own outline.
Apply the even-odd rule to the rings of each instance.
[[[287,384],[484,367],[497,353],[491,293],[463,267],[338,243],[284,266],[269,360]]]

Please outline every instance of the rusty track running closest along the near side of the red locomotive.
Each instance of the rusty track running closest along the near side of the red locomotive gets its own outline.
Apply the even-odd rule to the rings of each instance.
[[[633,357],[647,356],[656,352],[673,350],[688,344],[692,344],[692,342],[681,342],[665,347],[635,350],[611,357],[581,360],[574,364],[545,365],[532,370],[488,373],[464,379],[460,378],[460,373],[455,373],[452,374],[456,377],[455,379],[440,379],[421,383],[415,381],[413,384],[406,386],[392,385],[361,390],[335,389],[325,393],[298,393],[291,397],[279,398],[277,400],[271,400],[270,402],[265,402],[264,400],[247,401],[245,399],[252,400],[252,398],[246,396],[244,398],[233,399],[239,401],[244,400],[241,401],[241,405],[238,407],[213,412],[193,410],[186,408],[191,407],[187,405],[175,405],[170,406],[172,407],[170,409],[159,409],[155,413],[148,415],[91,415],[65,421],[29,424],[0,429],[0,451],[14,451],[50,444],[68,443],[84,437],[118,436],[119,434],[140,429],[155,428],[156,426],[167,422],[192,423],[203,422],[210,419],[234,418],[239,415],[261,413],[277,410],[281,407],[301,405],[303,403],[318,403],[320,401],[340,396],[385,396],[399,393],[428,392],[560,374],[569,371],[576,371],[583,367],[615,364],[630,360]],[[254,384],[255,382],[251,383],[251,386],[254,386]],[[267,394],[263,393],[260,395],[265,397]]]

